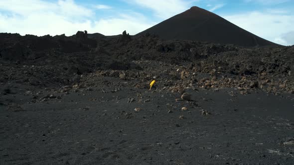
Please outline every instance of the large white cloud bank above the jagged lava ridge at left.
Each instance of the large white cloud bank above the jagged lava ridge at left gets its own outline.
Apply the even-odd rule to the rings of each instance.
[[[143,15],[132,12],[93,18],[94,11],[74,0],[0,0],[0,32],[70,36],[78,30],[87,30],[89,33],[117,35],[124,30],[137,34],[153,25]]]

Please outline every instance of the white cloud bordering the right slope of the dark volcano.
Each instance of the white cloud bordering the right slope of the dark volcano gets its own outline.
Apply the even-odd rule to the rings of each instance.
[[[282,45],[294,44],[293,37],[285,38],[285,33],[293,31],[294,15],[253,11],[223,17],[269,41]]]

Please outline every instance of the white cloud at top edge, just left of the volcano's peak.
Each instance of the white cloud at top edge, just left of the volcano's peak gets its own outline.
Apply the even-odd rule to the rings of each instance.
[[[128,0],[130,3],[152,9],[155,16],[162,19],[167,19],[189,9],[194,1],[197,0]]]

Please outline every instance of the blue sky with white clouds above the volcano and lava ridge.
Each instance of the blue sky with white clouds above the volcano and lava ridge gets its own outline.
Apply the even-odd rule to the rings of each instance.
[[[294,0],[0,0],[0,32],[135,35],[191,6],[281,45],[294,45]]]

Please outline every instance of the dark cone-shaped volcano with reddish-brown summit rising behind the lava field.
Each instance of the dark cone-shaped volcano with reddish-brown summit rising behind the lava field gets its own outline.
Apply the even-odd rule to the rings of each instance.
[[[194,40],[245,47],[278,46],[205,9],[193,6],[141,33],[161,39]]]

